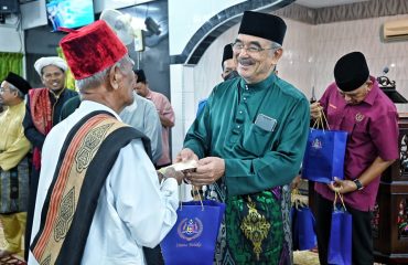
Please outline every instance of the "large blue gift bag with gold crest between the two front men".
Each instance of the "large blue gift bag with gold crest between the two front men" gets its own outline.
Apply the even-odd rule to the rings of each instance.
[[[213,264],[225,204],[202,202],[183,202],[178,209],[178,221],[160,244],[167,265]]]

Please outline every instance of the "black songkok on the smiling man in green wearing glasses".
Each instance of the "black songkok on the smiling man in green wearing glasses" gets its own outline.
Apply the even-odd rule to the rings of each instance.
[[[273,14],[245,11],[238,34],[254,35],[282,45],[287,24]]]

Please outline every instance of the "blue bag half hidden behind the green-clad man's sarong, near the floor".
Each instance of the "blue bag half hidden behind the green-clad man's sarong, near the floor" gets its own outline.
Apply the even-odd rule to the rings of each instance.
[[[305,251],[316,246],[315,221],[308,206],[292,206],[293,251]]]

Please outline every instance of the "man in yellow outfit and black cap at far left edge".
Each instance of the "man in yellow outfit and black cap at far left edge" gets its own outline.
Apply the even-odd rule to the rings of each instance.
[[[22,120],[25,114],[24,95],[31,85],[10,72],[0,87],[0,103],[8,106],[0,115],[0,221],[6,248],[0,257],[21,251],[29,202],[30,141],[24,136]]]

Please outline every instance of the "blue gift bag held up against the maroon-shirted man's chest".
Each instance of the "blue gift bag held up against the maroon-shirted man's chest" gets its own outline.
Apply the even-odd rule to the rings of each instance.
[[[330,183],[344,179],[344,156],[347,132],[311,128],[302,165],[302,178]]]

